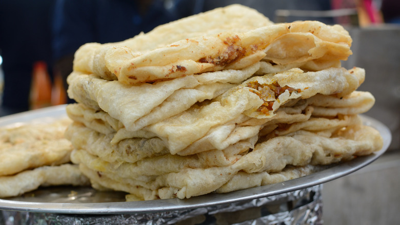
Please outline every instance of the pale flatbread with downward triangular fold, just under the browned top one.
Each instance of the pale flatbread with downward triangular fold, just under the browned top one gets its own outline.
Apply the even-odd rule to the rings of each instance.
[[[68,77],[68,93],[77,102],[106,111],[134,131],[182,113],[196,102],[221,95],[251,77],[258,68],[256,63],[242,70],[202,73],[138,86],[106,81],[93,74],[72,73]]]

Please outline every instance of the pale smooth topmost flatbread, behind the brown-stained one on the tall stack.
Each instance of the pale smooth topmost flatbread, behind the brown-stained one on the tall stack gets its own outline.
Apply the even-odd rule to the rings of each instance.
[[[246,32],[272,24],[263,14],[242,5],[216,8],[158,26],[146,34],[141,33],[122,42],[85,44],[75,53],[73,69],[85,73],[94,72],[106,80],[116,80],[115,74],[105,64],[104,57],[109,48],[118,47],[122,53],[126,49],[138,55],[190,37],[224,31]]]

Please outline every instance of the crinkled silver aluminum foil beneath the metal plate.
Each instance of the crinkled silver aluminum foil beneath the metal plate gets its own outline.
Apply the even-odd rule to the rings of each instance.
[[[0,224],[322,224],[322,184],[294,192],[191,210],[82,215],[0,211]]]

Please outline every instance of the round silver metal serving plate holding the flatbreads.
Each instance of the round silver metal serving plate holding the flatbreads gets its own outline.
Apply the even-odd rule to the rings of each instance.
[[[64,116],[66,116],[65,105],[54,106],[0,118],[0,126],[18,122],[45,121],[49,118]],[[225,194],[207,194],[184,200],[164,199],[135,202],[125,202],[124,193],[120,192],[99,192],[89,187],[57,186],[39,188],[20,197],[0,199],[0,210],[62,214],[155,213],[211,207],[309,188],[355,172],[373,162],[386,151],[392,138],[388,127],[367,116],[362,116],[362,119],[366,125],[374,127],[381,133],[384,139],[383,148],[369,156],[357,157],[348,162],[332,165],[326,170],[305,177]]]

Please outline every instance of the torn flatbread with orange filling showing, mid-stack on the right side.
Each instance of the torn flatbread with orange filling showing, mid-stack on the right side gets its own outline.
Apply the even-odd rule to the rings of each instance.
[[[364,80],[364,70],[357,68],[349,71],[330,68],[317,72],[289,70],[253,77],[207,105],[191,107],[144,129],[165,140],[171,154],[178,154],[204,137],[211,127],[234,121],[241,114],[253,118],[273,117],[273,112],[290,99],[310,98],[317,93],[344,96],[355,90],[361,84],[360,80]],[[277,86],[287,88],[279,89],[275,95]]]

